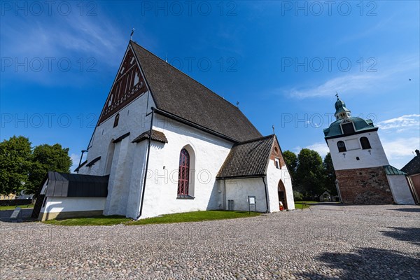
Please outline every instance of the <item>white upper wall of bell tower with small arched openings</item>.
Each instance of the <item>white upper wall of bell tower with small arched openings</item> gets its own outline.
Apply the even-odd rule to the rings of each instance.
[[[363,150],[360,145],[361,137],[367,137],[372,148]],[[339,153],[337,147],[338,141],[344,141],[347,149],[346,152]],[[365,132],[347,137],[328,139],[327,142],[335,170],[389,165],[377,132]],[[345,157],[343,153],[346,154]],[[360,160],[356,160],[356,157]]]

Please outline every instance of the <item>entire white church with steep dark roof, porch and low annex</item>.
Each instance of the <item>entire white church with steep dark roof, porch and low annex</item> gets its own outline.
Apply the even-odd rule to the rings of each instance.
[[[294,209],[276,136],[134,41],[75,172],[48,172],[34,217]]]

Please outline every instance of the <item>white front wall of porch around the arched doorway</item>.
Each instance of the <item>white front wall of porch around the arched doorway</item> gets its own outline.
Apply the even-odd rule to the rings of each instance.
[[[295,200],[293,198],[292,180],[286,165],[281,169],[276,168],[274,160],[269,160],[267,167],[267,188],[269,190],[269,209],[270,212],[279,211],[279,181],[283,182],[286,190],[287,209],[295,209]],[[283,205],[286,207],[286,205]]]

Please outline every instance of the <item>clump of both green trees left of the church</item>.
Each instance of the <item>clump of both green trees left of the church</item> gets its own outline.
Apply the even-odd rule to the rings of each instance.
[[[0,143],[0,193],[36,193],[48,171],[70,172],[69,148],[43,144],[31,149],[25,137]]]

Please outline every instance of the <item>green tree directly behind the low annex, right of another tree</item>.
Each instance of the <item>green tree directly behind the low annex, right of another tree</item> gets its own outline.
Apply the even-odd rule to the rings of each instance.
[[[69,157],[69,148],[62,148],[60,144],[36,146],[32,153],[31,161],[30,183],[27,186],[27,193],[36,193],[47,172],[69,173],[72,164]]]

